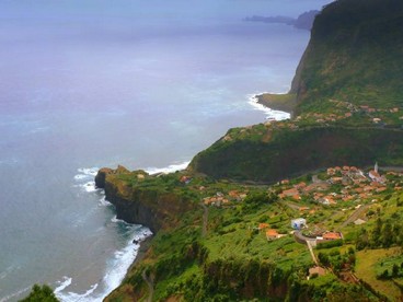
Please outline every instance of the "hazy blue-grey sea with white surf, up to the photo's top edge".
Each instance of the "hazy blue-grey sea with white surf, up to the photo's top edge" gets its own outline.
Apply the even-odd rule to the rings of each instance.
[[[287,118],[253,95],[289,89],[309,32],[242,19],[326,2],[1,0],[0,301],[102,301],[151,233],[116,219],[97,169],[175,171]]]

